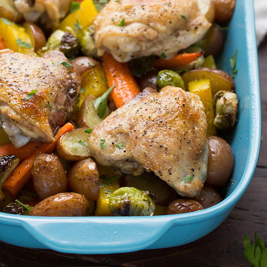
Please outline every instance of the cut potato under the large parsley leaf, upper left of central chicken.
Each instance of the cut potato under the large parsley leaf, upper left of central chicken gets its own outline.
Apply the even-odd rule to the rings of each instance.
[[[95,110],[93,101],[96,99],[94,96],[87,96],[76,116],[75,124],[79,127],[87,127],[93,129],[97,124],[99,124],[104,118],[108,117],[110,110],[107,107],[105,115],[100,118]]]

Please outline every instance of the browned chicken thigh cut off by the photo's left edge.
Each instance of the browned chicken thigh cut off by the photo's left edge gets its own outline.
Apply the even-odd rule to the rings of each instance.
[[[0,124],[16,147],[32,138],[54,141],[72,113],[81,78],[62,62],[56,50],[46,58],[0,50]]]

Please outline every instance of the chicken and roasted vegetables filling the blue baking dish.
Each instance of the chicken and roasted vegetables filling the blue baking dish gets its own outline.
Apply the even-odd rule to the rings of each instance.
[[[219,203],[234,168],[219,136],[237,121],[237,51],[231,74],[216,63],[234,0],[50,2],[0,3],[1,211],[157,216]]]

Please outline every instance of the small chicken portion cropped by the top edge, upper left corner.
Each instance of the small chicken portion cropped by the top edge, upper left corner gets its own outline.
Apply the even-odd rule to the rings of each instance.
[[[15,6],[26,21],[56,27],[69,11],[71,0],[15,0]]]

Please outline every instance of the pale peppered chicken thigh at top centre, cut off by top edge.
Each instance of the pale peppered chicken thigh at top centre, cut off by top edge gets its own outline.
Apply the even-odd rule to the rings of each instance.
[[[108,51],[127,62],[151,54],[171,58],[199,41],[211,23],[197,0],[110,0],[94,25],[99,55]]]

